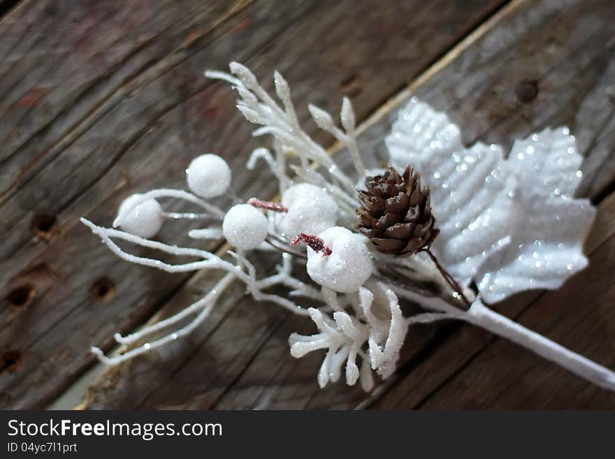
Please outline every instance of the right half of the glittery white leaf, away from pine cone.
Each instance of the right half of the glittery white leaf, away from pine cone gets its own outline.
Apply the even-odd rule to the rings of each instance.
[[[509,224],[512,242],[477,273],[486,302],[527,289],[557,289],[586,267],[583,242],[595,209],[572,197],[581,161],[567,128],[545,129],[514,143],[507,161],[519,180]]]

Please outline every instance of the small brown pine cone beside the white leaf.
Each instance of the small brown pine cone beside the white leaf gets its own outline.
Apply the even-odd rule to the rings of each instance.
[[[429,247],[437,233],[431,214],[429,188],[408,166],[403,175],[389,168],[366,177],[367,191],[359,190],[362,207],[356,210],[356,229],[368,236],[379,252],[410,256]]]

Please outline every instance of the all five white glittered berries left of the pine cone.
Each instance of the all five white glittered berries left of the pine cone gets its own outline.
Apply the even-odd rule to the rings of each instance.
[[[198,197],[215,198],[231,184],[231,168],[221,156],[203,154],[186,170],[188,188]],[[340,208],[321,187],[294,184],[282,194],[284,212],[275,212],[278,235],[291,240],[300,233],[316,235],[331,248],[330,255],[307,247],[307,274],[321,286],[339,293],[359,290],[372,275],[373,265],[366,238],[335,226]],[[154,198],[133,194],[120,205],[120,226],[127,233],[152,238],[164,222],[165,212]],[[269,234],[269,221],[262,210],[249,204],[233,205],[222,221],[224,238],[241,251],[256,249]]]

